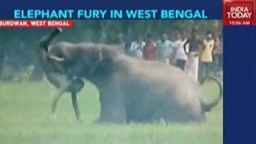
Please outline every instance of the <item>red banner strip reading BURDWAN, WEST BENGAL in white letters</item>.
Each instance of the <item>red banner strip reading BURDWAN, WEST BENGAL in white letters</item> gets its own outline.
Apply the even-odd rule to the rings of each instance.
[[[0,20],[0,27],[73,27],[73,20]]]

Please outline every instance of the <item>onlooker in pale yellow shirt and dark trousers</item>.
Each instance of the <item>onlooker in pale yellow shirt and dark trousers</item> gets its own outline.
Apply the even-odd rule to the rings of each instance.
[[[207,33],[207,38],[203,40],[203,50],[200,57],[200,82],[203,81],[204,78],[209,76],[210,68],[213,62],[213,50],[214,50],[214,38],[211,32]]]

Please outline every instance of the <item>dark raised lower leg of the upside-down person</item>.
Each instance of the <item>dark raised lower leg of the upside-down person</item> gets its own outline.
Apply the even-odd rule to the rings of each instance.
[[[58,35],[60,32],[62,32],[61,28],[55,28],[50,34],[47,34],[46,36],[42,37],[39,41],[39,46],[45,51],[48,52],[48,46],[52,39]]]

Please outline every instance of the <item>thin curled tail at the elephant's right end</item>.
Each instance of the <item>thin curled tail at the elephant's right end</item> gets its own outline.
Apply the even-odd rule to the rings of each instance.
[[[214,106],[217,106],[218,103],[222,100],[223,89],[222,89],[222,82],[220,82],[220,80],[218,78],[216,78],[214,76],[210,76],[206,79],[214,80],[214,82],[217,82],[218,87],[219,87],[218,98],[214,99],[212,102],[203,102],[203,101],[201,101],[202,109],[207,112],[207,111],[210,111],[212,108],[214,108]]]

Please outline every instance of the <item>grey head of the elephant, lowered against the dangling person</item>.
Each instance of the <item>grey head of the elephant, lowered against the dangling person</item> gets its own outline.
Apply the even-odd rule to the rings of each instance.
[[[102,44],[59,42],[55,46],[70,49],[71,52],[68,56],[49,53],[50,61],[64,66],[67,74],[87,79],[94,78],[99,74],[107,74],[110,70],[113,70],[114,66],[112,64],[114,59],[118,57],[117,50],[111,50],[108,46]],[[52,49],[55,49],[54,46],[52,46]],[[62,57],[58,55],[62,55]]]

